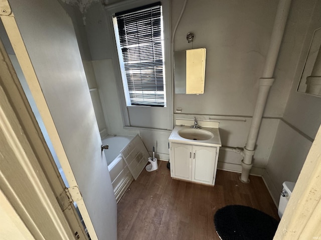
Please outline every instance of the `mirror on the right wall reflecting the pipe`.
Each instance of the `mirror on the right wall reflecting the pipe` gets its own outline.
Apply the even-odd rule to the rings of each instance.
[[[321,96],[321,27],[314,30],[297,91]]]

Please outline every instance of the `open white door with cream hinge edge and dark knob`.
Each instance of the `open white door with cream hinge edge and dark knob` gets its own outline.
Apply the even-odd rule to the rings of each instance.
[[[56,0],[7,3],[1,19],[72,198],[91,239],[116,240],[116,200],[71,19]]]

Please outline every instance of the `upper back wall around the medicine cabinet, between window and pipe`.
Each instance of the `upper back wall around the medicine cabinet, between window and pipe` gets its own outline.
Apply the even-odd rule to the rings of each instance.
[[[172,1],[172,27],[183,1]],[[277,2],[188,1],[175,36],[175,51],[192,48],[186,40],[189,31],[195,34],[193,48],[207,49],[205,93],[175,94],[174,109],[182,107],[183,113],[194,114],[252,115]]]

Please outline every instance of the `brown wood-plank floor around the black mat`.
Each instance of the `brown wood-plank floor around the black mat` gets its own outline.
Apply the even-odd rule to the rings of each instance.
[[[277,208],[261,177],[242,183],[240,173],[217,171],[215,186],[174,180],[167,162],[141,172],[117,204],[118,240],[220,239],[214,213],[229,204],[259,209],[277,220]]]

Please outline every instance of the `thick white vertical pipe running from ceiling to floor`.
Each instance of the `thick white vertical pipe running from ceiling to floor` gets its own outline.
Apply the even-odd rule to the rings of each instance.
[[[278,3],[265,66],[263,69],[262,77],[259,80],[259,92],[253,112],[251,127],[243,151],[244,158],[242,160],[242,174],[240,177],[241,181],[243,182],[249,181],[248,176],[252,167],[252,156],[254,155],[254,148],[268,92],[274,81],[274,78],[272,78],[273,72],[279,53],[290,4],[291,0],[280,0]]]

